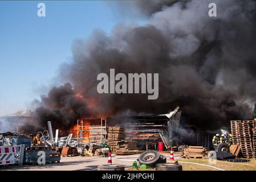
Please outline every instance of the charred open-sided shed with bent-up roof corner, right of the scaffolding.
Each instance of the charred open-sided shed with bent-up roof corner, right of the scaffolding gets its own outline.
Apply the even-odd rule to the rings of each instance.
[[[125,139],[136,140],[140,149],[145,149],[148,143],[164,142],[165,147],[180,144],[178,127],[181,111],[177,107],[169,114],[135,115],[107,118],[109,126],[119,126],[125,129]]]

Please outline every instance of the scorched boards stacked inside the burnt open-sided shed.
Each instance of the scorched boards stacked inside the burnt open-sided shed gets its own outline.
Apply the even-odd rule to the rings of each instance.
[[[144,133],[144,132],[125,132],[127,139],[142,139],[142,140],[157,140],[159,139],[159,133]]]

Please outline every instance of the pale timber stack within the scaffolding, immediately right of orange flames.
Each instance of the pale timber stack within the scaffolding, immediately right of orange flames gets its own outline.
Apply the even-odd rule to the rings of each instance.
[[[106,134],[107,134],[107,131],[106,131],[105,127],[90,126],[89,142],[90,143],[100,143],[102,140],[105,140]]]

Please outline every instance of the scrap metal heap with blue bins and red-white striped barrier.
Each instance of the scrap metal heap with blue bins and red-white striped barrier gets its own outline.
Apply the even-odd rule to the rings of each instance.
[[[42,154],[45,160],[42,160],[40,164],[59,163],[60,154],[55,150],[55,142],[53,140],[49,142],[50,136],[48,133],[47,135],[43,133],[39,132],[35,137],[11,132],[0,134],[0,166],[39,164]]]

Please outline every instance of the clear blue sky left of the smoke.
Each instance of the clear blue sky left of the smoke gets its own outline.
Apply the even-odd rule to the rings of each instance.
[[[46,5],[46,17],[37,5]],[[0,1],[0,115],[26,109],[46,93],[74,39],[125,20],[102,1]]]

